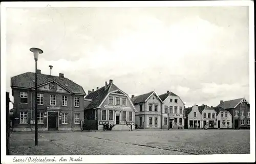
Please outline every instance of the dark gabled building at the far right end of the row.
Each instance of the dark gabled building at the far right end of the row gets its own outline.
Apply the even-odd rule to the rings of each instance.
[[[250,104],[245,98],[220,101],[218,107],[229,111],[232,115],[232,128],[250,128]]]

